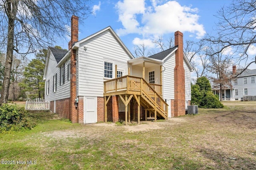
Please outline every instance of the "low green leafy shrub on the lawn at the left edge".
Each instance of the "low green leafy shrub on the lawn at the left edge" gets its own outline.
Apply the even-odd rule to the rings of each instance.
[[[0,132],[32,129],[35,125],[36,123],[28,117],[28,112],[24,107],[9,104],[0,106]]]

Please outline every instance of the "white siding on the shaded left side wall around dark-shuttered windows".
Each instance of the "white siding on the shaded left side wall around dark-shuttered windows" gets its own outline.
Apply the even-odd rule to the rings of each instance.
[[[46,80],[50,80],[50,84],[53,84],[53,76],[57,73],[57,85],[56,85],[56,92],[53,92],[53,86],[49,86],[49,95],[45,96],[45,100],[47,101],[54,101],[60,100],[65,98],[70,98],[70,81],[66,80],[65,84],[60,86],[60,68],[56,67],[57,62],[53,57],[52,53],[50,53],[50,58],[47,59],[48,62],[48,70],[46,72]],[[70,59],[66,61],[66,64],[70,63]],[[65,68],[65,74],[67,73],[67,67]],[[46,86],[45,83],[45,94],[46,94]]]

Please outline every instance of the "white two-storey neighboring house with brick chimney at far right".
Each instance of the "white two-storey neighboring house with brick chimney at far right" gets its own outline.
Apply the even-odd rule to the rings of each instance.
[[[244,96],[256,96],[256,69],[246,69],[242,72],[242,69],[236,70],[236,66],[233,66],[232,72],[232,87],[222,89],[223,100],[242,100]],[[219,94],[219,90],[214,90],[214,94]]]

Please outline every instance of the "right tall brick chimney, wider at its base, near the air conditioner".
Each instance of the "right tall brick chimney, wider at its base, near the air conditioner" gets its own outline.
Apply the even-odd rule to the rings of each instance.
[[[174,116],[185,115],[185,71],[183,67],[183,33],[176,31],[174,33],[175,46],[178,49],[175,52],[174,68]]]

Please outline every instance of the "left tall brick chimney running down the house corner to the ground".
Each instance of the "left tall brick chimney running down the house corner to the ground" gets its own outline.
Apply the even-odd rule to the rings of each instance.
[[[78,111],[74,104],[76,99],[76,50],[72,49],[74,43],[78,41],[78,17],[71,18],[71,40],[68,43],[70,49],[70,121],[78,123]]]

